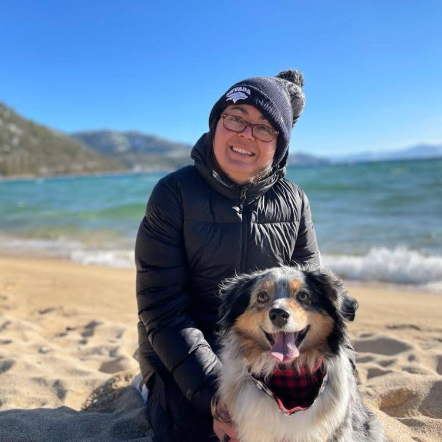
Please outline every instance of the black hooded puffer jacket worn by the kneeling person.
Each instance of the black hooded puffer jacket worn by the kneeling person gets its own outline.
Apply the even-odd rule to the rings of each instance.
[[[284,176],[238,186],[213,171],[206,135],[194,166],[156,185],[136,244],[138,357],[145,382],[173,376],[209,412],[221,362],[216,356],[218,284],[235,273],[293,263],[319,264],[304,192]]]

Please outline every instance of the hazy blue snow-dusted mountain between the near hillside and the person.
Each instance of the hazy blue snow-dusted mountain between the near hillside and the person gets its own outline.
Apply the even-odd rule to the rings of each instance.
[[[192,146],[141,132],[75,132],[71,137],[132,170],[174,170],[191,164]]]

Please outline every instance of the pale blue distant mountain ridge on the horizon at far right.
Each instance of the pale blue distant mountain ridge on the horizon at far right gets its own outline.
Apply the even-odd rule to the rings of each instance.
[[[363,163],[394,160],[424,160],[439,157],[442,157],[442,144],[415,144],[414,146],[401,150],[362,152],[359,154],[335,156],[331,160],[334,163]]]

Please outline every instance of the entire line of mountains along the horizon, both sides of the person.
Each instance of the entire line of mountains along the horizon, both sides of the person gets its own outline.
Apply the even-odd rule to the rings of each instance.
[[[0,176],[60,175],[115,170],[175,170],[192,163],[192,146],[137,131],[75,132],[70,136],[38,125],[0,103]],[[289,155],[287,166],[324,166],[442,157],[442,144],[321,158]]]

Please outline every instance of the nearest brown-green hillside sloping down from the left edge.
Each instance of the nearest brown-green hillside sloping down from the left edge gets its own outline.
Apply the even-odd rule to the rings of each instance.
[[[0,103],[0,175],[48,176],[123,169],[123,164]]]

